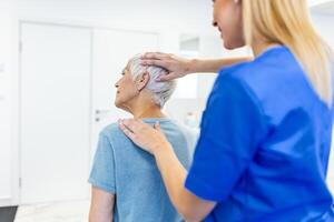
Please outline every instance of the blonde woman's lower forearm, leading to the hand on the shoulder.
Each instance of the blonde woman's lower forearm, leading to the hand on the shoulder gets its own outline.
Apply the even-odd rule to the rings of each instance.
[[[186,169],[177,159],[170,144],[154,153],[168,195],[177,211],[187,221],[199,221],[209,213],[214,204],[198,199],[186,190]]]

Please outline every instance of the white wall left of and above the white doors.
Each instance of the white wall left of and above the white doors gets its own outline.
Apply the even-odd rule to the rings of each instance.
[[[210,1],[16,1],[0,0],[0,205],[19,203],[18,20],[155,31],[166,52],[178,52],[180,33],[217,36],[219,42]]]

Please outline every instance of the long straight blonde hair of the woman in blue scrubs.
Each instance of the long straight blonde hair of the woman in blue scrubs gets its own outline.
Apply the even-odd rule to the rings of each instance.
[[[296,57],[320,98],[332,104],[330,47],[312,26],[306,0],[243,0],[248,46],[256,38],[286,46]]]

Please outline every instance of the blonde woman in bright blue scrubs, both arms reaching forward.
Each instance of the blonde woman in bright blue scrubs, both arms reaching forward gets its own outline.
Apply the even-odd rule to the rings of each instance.
[[[213,4],[225,48],[249,46],[254,59],[148,53],[143,61],[170,71],[160,81],[218,72],[189,172],[159,123],[128,119],[119,121],[120,129],[155,157],[170,200],[187,221],[334,221],[326,185],[332,59],[311,24],[306,0]]]

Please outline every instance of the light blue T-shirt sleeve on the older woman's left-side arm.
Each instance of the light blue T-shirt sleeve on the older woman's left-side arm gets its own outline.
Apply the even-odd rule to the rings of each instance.
[[[99,143],[95,153],[89,183],[111,194],[116,193],[115,159],[109,139],[100,133]]]

